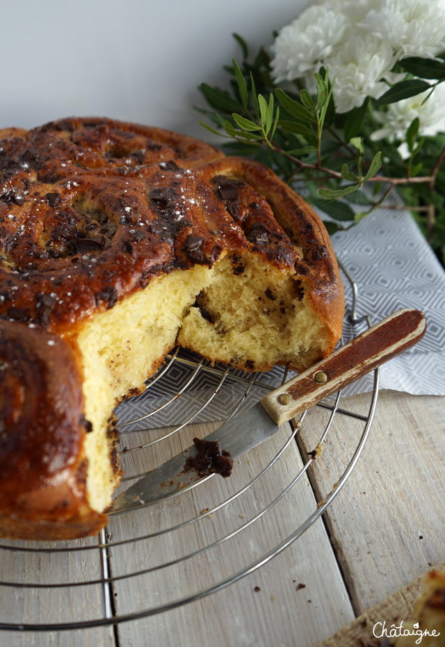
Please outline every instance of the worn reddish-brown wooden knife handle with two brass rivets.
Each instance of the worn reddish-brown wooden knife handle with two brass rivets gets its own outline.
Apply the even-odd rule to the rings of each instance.
[[[277,425],[321,402],[419,341],[426,331],[419,310],[398,310],[341,346],[330,357],[268,393],[261,404]]]

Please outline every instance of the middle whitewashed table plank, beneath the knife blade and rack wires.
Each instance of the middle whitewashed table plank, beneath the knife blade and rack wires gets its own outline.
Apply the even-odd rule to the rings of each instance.
[[[215,426],[191,425],[181,432],[180,439],[175,436],[168,443],[154,445],[149,449],[151,466],[165,461],[190,445],[193,436],[204,436]],[[138,434],[132,436],[131,445],[143,442]],[[248,484],[275,457],[289,436],[289,425],[283,425],[272,439],[237,459],[229,479],[213,477],[193,493],[181,494],[144,511],[113,517],[112,541],[142,537],[199,517],[204,509],[211,509]],[[129,438],[122,442],[130,446]],[[127,473],[138,473],[139,461],[138,454],[126,454]],[[222,546],[160,571],[124,577],[126,573],[165,564],[170,559],[181,559],[236,532],[284,491],[301,466],[298,448],[291,441],[283,456],[257,484],[213,512],[211,518],[202,517],[185,528],[158,537],[113,546],[110,550],[112,572],[123,576],[114,584],[117,614],[143,611],[211,587],[289,537],[316,511],[316,501],[305,474],[270,511]],[[133,646],[143,646],[148,640],[156,646],[172,647],[178,644],[181,647],[293,646],[298,637],[300,647],[312,647],[353,617],[337,562],[319,519],[284,552],[235,584],[168,612],[122,623],[118,633],[122,644]]]

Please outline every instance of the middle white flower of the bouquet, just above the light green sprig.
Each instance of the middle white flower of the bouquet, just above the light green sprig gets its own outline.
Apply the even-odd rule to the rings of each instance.
[[[378,36],[357,31],[332,54],[330,77],[335,77],[334,98],[338,113],[378,99],[388,89],[382,78],[394,65],[392,48]]]

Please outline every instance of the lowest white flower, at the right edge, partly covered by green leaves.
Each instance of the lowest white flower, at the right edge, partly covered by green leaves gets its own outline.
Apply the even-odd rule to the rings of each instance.
[[[382,124],[382,128],[375,131],[371,139],[376,141],[389,138],[391,142],[405,138],[407,127],[416,117],[419,117],[419,135],[435,136],[445,133],[445,84],[437,85],[430,98],[430,90],[421,92],[420,95],[401,99],[394,104],[389,104],[388,109],[375,113],[375,117]]]

